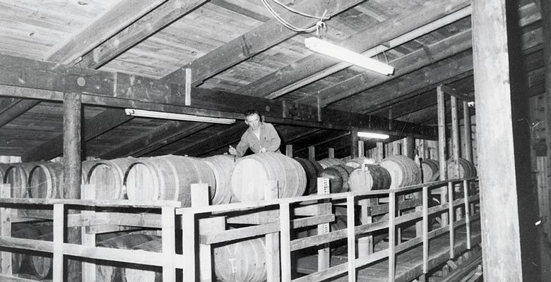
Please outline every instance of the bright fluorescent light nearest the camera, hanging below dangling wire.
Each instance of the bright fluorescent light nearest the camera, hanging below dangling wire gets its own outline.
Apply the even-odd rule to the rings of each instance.
[[[394,73],[394,68],[386,63],[381,63],[380,61],[368,58],[367,56],[352,52],[316,37],[304,39],[304,44],[312,51],[331,56],[340,61],[352,63],[352,65],[361,66],[362,68],[367,68],[368,70],[376,71],[384,75],[391,75]]]

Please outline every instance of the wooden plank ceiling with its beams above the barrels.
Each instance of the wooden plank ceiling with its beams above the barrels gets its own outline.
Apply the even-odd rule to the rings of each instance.
[[[297,26],[316,22],[268,2]],[[525,68],[533,95],[543,92],[538,2],[523,0],[519,8]],[[283,27],[260,0],[0,0],[0,75],[4,76],[0,78],[0,155],[38,160],[61,154],[61,103],[48,100],[59,91],[74,91],[63,89],[64,75],[69,73],[64,70],[69,67],[88,75],[102,75],[88,69],[137,75],[150,79],[151,85],[162,85],[162,81],[183,84],[183,68],[191,68],[191,95],[197,102],[192,102],[188,111],[218,103],[207,109],[242,118],[237,109],[243,106],[253,104],[263,112],[269,111],[269,105],[281,106],[283,116],[264,114],[268,121],[280,123],[276,128],[283,143],[294,145],[295,155],[302,157],[312,145],[318,158],[325,157],[327,147],[335,147],[337,157],[350,154],[347,129],[355,124],[342,126],[342,111],[370,115],[361,116],[368,122],[359,123],[360,128],[388,129],[380,124],[389,123],[387,118],[413,128],[410,123],[434,125],[437,85],[473,94],[468,0],[283,3],[319,16],[325,12],[331,19],[326,20],[328,28],[321,34],[324,39],[389,62],[396,73],[378,75],[312,53],[304,47],[304,39],[314,34],[297,34]],[[44,65],[52,79],[28,83],[26,80],[35,80],[28,75],[33,61],[19,63],[19,59],[53,63]],[[12,78],[8,74],[14,69],[13,62],[24,66],[14,71]],[[49,83],[56,79],[64,82]],[[114,80],[117,85],[117,78]],[[174,94],[141,91],[142,102],[156,101],[158,106],[158,101],[168,99],[153,95]],[[226,93],[256,98],[251,97],[253,102],[247,105],[240,102],[246,100],[235,99],[242,96]],[[277,103],[270,104],[269,99]],[[148,108],[147,103],[140,105]],[[174,105],[167,109],[174,111]],[[341,114],[318,114],[315,122],[318,107],[322,114]],[[304,118],[303,109],[314,116]],[[124,109],[93,102],[85,102],[83,117],[83,155],[105,159],[220,154],[228,145],[235,145],[246,128],[241,121],[213,125],[132,118]],[[355,119],[351,117],[348,119]],[[393,140],[431,132],[426,128],[414,131],[395,131]],[[425,135],[431,137],[429,133]],[[372,145],[369,142],[367,147]]]

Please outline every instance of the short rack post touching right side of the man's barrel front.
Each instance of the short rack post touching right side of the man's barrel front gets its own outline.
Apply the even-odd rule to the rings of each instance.
[[[264,199],[271,200],[279,197],[278,182],[268,180],[264,186]],[[281,211],[280,211],[281,212]],[[283,219],[280,217],[280,221]],[[288,231],[290,232],[290,231]],[[280,281],[280,235],[279,233],[266,234],[266,272],[267,281]],[[281,239],[283,240],[283,239]],[[289,243],[290,244],[290,243]],[[283,244],[282,244],[283,246]],[[282,247],[283,248],[283,247]],[[283,250],[282,250],[283,252]],[[283,271],[281,271],[283,274]],[[290,274],[289,274],[290,275]]]

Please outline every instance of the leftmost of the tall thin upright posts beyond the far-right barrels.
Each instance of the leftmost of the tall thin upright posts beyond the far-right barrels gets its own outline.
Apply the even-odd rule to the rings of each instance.
[[[448,166],[446,164],[446,105],[444,104],[444,90],[442,87],[437,87],[437,105],[438,105],[438,162],[440,180],[448,179]],[[439,189],[440,203],[444,204],[447,201],[446,189]],[[442,213],[442,226],[448,224],[446,213]]]

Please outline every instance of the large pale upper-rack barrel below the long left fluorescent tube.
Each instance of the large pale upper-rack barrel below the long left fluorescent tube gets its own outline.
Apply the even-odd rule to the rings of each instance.
[[[140,159],[124,176],[129,200],[173,200],[183,207],[191,207],[193,183],[207,183],[214,195],[214,173],[204,161],[173,155]]]

